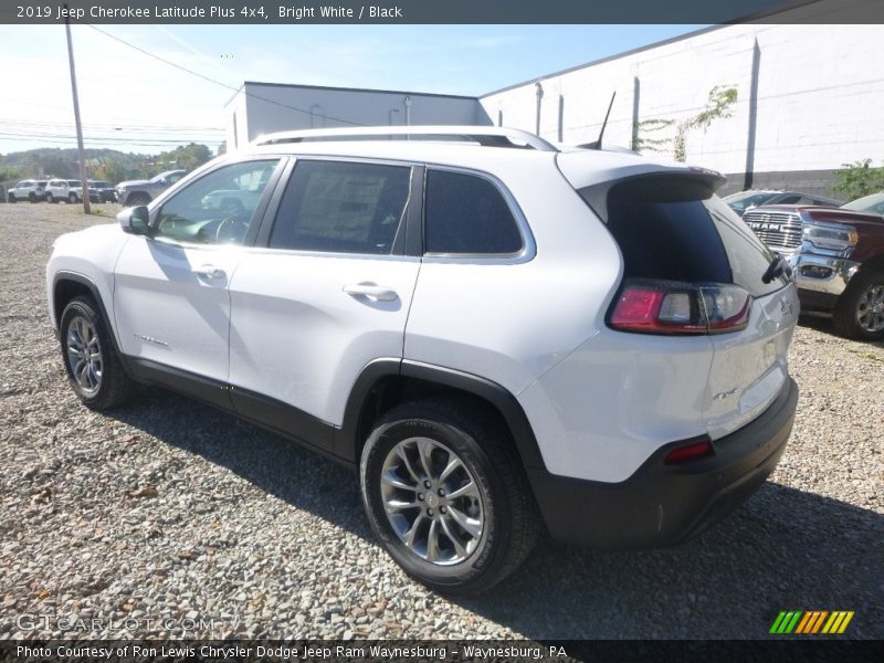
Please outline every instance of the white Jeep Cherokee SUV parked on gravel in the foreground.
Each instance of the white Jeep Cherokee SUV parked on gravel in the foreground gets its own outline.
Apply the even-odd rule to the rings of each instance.
[[[494,127],[272,135],[61,236],[50,311],[86,406],[164,385],[351,465],[397,562],[475,593],[544,528],[674,544],[776,466],[798,299],[722,182]]]

